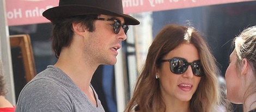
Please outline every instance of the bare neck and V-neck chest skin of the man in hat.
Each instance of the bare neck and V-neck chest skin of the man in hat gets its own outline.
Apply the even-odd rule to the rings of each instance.
[[[54,65],[65,72],[71,80],[80,88],[81,91],[89,98],[95,107],[97,107],[96,98],[93,89],[90,88],[90,82],[93,74],[97,69],[96,66],[91,66],[86,61],[59,57],[57,63]]]

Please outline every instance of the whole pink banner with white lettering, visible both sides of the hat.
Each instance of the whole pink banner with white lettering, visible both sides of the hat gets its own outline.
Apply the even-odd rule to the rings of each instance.
[[[131,14],[246,1],[253,0],[123,0],[123,7],[126,14]],[[8,26],[49,22],[42,16],[42,12],[58,5],[58,0],[6,0],[5,2]]]

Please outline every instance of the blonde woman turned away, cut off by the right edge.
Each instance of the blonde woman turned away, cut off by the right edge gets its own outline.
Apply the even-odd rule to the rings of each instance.
[[[243,104],[243,111],[256,111],[256,27],[249,27],[234,39],[235,49],[225,73],[227,99]]]

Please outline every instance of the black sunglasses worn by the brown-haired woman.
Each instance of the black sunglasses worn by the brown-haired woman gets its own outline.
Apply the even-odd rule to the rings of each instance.
[[[167,60],[161,60],[161,63],[168,61],[170,64],[170,71],[175,74],[182,74],[186,72],[189,65],[192,67],[192,72],[195,76],[202,77],[204,76],[203,68],[200,60],[193,61],[188,63],[184,58],[172,58]]]

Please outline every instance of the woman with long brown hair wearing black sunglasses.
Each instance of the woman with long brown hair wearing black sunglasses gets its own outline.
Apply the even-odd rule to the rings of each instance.
[[[220,111],[217,71],[195,29],[169,24],[150,46],[125,111]]]

